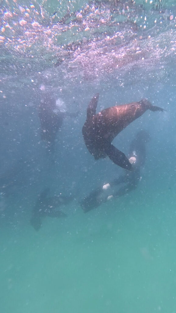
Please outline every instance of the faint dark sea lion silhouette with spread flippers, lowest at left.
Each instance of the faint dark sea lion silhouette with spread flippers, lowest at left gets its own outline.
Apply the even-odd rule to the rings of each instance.
[[[42,221],[45,217],[52,218],[66,217],[67,215],[58,210],[61,205],[69,203],[73,197],[68,196],[54,196],[48,197],[49,188],[44,189],[38,196],[35,207],[32,211],[31,225],[35,230],[39,230],[42,226]]]

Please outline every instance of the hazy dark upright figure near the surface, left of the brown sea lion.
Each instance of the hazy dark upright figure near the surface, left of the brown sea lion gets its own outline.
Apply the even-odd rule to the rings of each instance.
[[[46,141],[47,149],[53,152],[56,134],[63,124],[64,118],[77,117],[78,112],[69,113],[65,109],[56,105],[56,97],[51,93],[48,93],[41,100],[38,116],[41,125],[41,140]]]

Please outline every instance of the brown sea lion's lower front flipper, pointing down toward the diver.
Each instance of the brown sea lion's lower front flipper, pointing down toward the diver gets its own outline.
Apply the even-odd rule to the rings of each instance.
[[[109,156],[110,160],[117,164],[120,167],[125,168],[126,170],[132,170],[132,165],[130,164],[129,160],[125,156],[123,152],[115,148],[113,145],[108,145],[105,149],[105,153]]]

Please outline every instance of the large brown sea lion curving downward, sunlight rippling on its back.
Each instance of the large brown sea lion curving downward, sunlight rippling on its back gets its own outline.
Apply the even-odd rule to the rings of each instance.
[[[87,107],[87,119],[82,128],[82,134],[87,149],[95,160],[109,156],[111,161],[128,170],[132,165],[123,152],[111,144],[113,139],[131,122],[143,115],[145,111],[164,111],[152,105],[147,99],[125,105],[117,105],[102,110],[96,114],[99,93],[90,101]]]

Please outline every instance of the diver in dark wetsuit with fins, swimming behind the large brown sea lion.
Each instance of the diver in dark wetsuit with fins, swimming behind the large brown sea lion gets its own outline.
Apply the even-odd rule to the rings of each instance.
[[[139,131],[136,138],[131,142],[129,150],[129,161],[133,166],[132,172],[126,171],[124,175],[99,187],[81,200],[81,208],[86,213],[97,208],[111,198],[118,198],[136,189],[140,181],[140,168],[144,166],[146,159],[146,143],[150,140],[147,131]],[[115,186],[121,186],[113,191]]]

